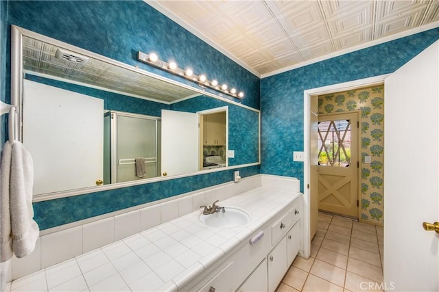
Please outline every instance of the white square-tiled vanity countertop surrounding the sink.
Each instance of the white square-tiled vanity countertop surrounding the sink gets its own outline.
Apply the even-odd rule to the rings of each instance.
[[[244,226],[207,226],[198,219],[200,209],[18,279],[12,291],[43,278],[43,291],[72,285],[75,291],[178,291],[300,196],[296,191],[257,187],[217,203],[248,211],[250,222]],[[37,289],[36,283],[28,284]]]

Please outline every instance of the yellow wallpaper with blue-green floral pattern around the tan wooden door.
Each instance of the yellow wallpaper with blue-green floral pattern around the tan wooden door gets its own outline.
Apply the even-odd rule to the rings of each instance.
[[[361,111],[361,221],[383,225],[384,87],[338,92],[318,96],[319,114]],[[372,163],[364,163],[370,156]]]

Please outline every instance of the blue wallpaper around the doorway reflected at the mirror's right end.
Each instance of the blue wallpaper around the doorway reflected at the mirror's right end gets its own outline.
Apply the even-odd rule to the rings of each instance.
[[[228,105],[228,149],[235,150],[235,158],[229,158],[228,165],[259,161],[259,114],[256,111],[206,96],[175,103],[171,109],[195,112],[225,105]]]

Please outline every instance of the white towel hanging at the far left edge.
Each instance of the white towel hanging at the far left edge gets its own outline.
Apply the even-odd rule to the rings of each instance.
[[[17,258],[30,254],[35,248],[39,229],[38,224],[33,220],[34,163],[32,157],[23,144],[14,141],[5,143],[1,158],[1,261],[6,261],[12,256],[11,241],[12,251]],[[7,207],[9,210],[3,214]],[[5,217],[8,214],[10,226],[8,226],[8,217]],[[3,217],[5,217],[4,220]]]

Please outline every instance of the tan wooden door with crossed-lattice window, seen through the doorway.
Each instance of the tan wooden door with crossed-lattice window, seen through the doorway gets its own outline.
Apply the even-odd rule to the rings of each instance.
[[[318,117],[318,209],[358,216],[357,113]]]

